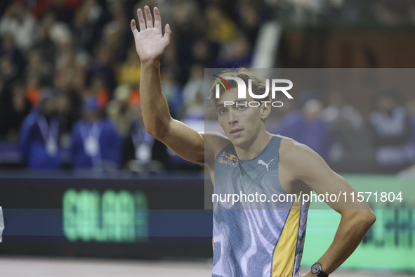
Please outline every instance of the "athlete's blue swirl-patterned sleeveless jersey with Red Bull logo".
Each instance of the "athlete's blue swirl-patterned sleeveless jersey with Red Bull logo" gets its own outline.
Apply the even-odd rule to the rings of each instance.
[[[281,139],[273,136],[252,160],[239,160],[232,144],[216,156],[212,276],[298,274],[309,204],[289,199],[279,183]],[[266,195],[266,200],[261,202],[264,198],[257,196],[258,202],[250,202],[256,193]],[[232,198],[227,198],[230,194],[242,201],[232,205]],[[286,200],[273,202],[273,194]]]

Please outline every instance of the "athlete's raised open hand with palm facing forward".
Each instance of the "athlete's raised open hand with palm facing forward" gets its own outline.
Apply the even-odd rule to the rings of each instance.
[[[143,11],[137,10],[138,25],[140,32],[136,27],[136,20],[131,20],[131,31],[136,42],[136,51],[140,57],[141,63],[153,62],[159,60],[164,49],[169,45],[171,29],[166,24],[164,35],[162,34],[162,17],[158,8],[154,8],[154,25],[149,6],[144,7],[145,20]],[[147,26],[146,26],[147,25]]]

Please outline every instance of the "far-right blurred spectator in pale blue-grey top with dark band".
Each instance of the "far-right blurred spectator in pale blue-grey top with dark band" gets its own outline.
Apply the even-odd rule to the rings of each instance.
[[[414,146],[409,143],[409,115],[394,89],[381,91],[378,108],[369,121],[374,134],[376,162],[382,173],[396,173],[415,160]]]

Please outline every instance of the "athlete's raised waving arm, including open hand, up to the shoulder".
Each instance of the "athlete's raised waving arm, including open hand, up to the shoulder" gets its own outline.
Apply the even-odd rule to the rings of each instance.
[[[162,34],[162,18],[154,8],[154,22],[150,8],[137,10],[138,25],[131,20],[131,31],[136,42],[136,51],[141,60],[140,103],[146,131],[174,153],[192,162],[204,163],[204,136],[183,122],[173,120],[160,82],[160,58],[169,45],[171,29],[169,24]]]

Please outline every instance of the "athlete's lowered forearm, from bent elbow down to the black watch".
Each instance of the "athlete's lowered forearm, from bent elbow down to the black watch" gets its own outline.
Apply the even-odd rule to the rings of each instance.
[[[342,215],[340,224],[329,249],[318,259],[325,273],[330,274],[355,251],[364,235],[374,223],[371,210],[348,211]],[[306,276],[313,276],[310,272]]]

